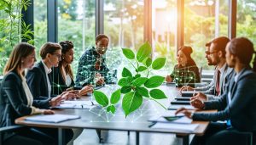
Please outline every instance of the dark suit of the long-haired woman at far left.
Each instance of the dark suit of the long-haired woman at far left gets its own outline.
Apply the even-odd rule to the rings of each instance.
[[[32,108],[27,106],[27,98],[22,86],[22,80],[20,75],[15,71],[11,71],[4,76],[0,88],[0,95],[0,111],[2,112],[0,114],[1,127],[15,125],[15,119],[32,114]],[[38,108],[46,108],[49,107],[48,102],[49,100],[33,100],[32,105]],[[57,137],[57,130],[37,127],[16,131],[15,134],[5,133],[3,140],[10,144],[20,144],[22,141],[49,144],[56,142],[55,137]],[[68,137],[68,139],[71,138]]]

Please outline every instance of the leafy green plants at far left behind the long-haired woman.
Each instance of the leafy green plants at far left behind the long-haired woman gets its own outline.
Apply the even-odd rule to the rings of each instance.
[[[30,25],[21,20],[21,11],[30,4],[30,0],[0,1],[0,75],[3,75],[3,67],[18,42],[24,39],[33,44]]]

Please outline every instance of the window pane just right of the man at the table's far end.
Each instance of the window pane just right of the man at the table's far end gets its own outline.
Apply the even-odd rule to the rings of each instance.
[[[110,70],[119,70],[118,75],[124,64],[129,64],[121,48],[129,47],[137,51],[143,44],[143,18],[143,0],[104,1],[104,33],[110,39],[107,63]]]

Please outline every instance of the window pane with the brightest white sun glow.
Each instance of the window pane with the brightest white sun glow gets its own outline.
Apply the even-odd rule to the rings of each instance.
[[[177,1],[152,1],[153,58],[166,57],[161,75],[171,74],[176,64]]]

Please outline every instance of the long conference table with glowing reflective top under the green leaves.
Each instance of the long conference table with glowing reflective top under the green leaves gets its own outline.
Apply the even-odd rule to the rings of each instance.
[[[105,86],[100,91],[105,92],[110,97],[111,92],[114,92],[118,86]],[[166,93],[168,98],[159,100],[164,106],[170,106],[170,102],[176,96],[179,96],[179,91],[175,86],[162,85],[159,87]],[[84,97],[82,100],[91,100],[93,97]],[[60,123],[44,123],[25,120],[27,116],[20,117],[15,120],[16,124],[27,125],[33,127],[49,127],[58,129],[58,144],[62,145],[65,141],[63,137],[63,129],[67,128],[79,128],[79,129],[96,129],[97,131],[135,131],[136,132],[136,144],[139,144],[140,132],[151,133],[170,133],[176,134],[177,137],[183,139],[183,145],[189,144],[189,135],[195,134],[196,136],[202,136],[207,129],[208,121],[193,121],[192,124],[199,124],[195,131],[177,131],[170,129],[156,129],[149,127],[152,122],[148,119],[155,115],[159,115],[166,109],[162,108],[158,103],[155,103],[148,98],[143,99],[143,105],[135,112],[129,114],[125,118],[125,114],[121,108],[120,103],[116,105],[117,111],[115,114],[108,113],[106,109],[102,109],[101,106],[96,105],[92,109],[55,109],[55,114],[76,114],[80,116],[77,120],[67,120]]]

